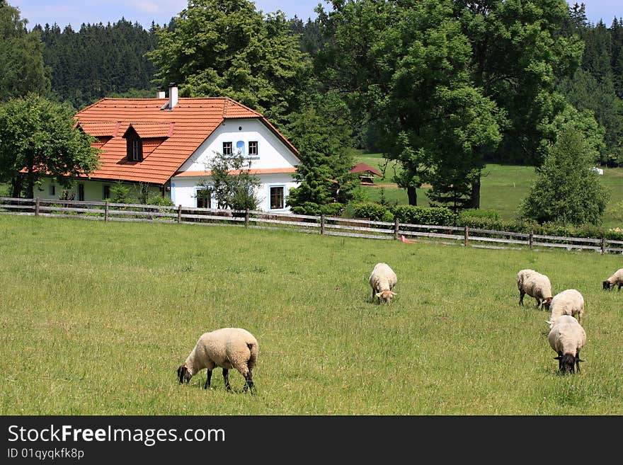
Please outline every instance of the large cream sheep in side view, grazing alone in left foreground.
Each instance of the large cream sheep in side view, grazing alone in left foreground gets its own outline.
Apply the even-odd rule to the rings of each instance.
[[[193,375],[207,368],[204,389],[210,387],[214,367],[223,369],[225,388],[229,386],[229,369],[237,369],[244,376],[243,392],[253,394],[253,367],[258,360],[258,341],[242,328],[220,328],[201,335],[186,361],[178,368],[180,384],[188,383]]]

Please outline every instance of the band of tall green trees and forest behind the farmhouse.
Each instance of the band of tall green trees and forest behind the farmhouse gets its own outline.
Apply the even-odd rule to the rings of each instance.
[[[399,166],[411,205],[427,183],[433,205],[452,209],[479,207],[487,162],[540,169],[569,147],[559,134],[581,135],[583,163],[623,165],[623,21],[592,24],[583,4],[333,0],[304,22],[247,0],[197,0],[149,30],[122,18],[30,33],[16,11],[0,0],[22,42],[1,40],[38,47],[23,64],[40,76],[32,91],[81,108],[174,81],[180,96],[263,113],[301,152],[289,198],[299,211],[353,198],[353,148]]]

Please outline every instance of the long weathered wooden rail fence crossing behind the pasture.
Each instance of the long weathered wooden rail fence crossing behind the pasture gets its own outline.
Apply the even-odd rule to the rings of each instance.
[[[623,253],[623,241],[605,238],[542,236],[539,234],[491,231],[467,226],[434,226],[375,222],[367,219],[311,216],[290,213],[267,213],[253,210],[229,210],[170,207],[55,199],[21,199],[0,197],[0,214],[35,217],[80,218],[105,222],[158,222],[172,224],[231,225],[256,229],[348,236],[365,239],[434,242],[480,248],[566,248],[568,251],[589,250],[602,254]]]

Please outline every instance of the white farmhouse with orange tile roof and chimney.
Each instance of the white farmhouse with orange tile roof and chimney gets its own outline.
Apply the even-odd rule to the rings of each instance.
[[[289,210],[287,195],[298,185],[292,178],[300,163],[297,149],[263,115],[231,98],[178,98],[172,83],[168,98],[164,91],[156,98],[103,98],[75,118],[79,130],[98,139],[101,166],[66,193],[47,179],[37,197],[103,200],[121,182],[175,205],[216,208],[215,199],[201,193],[210,185],[207,167],[215,153],[240,152],[261,181],[259,208]]]

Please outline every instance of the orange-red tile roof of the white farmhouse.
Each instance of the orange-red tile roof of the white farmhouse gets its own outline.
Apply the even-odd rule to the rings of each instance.
[[[103,98],[75,118],[84,132],[112,137],[101,146],[101,167],[91,179],[129,180],[163,185],[227,118],[260,120],[295,156],[297,149],[263,115],[231,98],[180,98],[162,110],[168,98]],[[143,161],[128,162],[126,139],[132,125],[142,138],[165,138]]]

